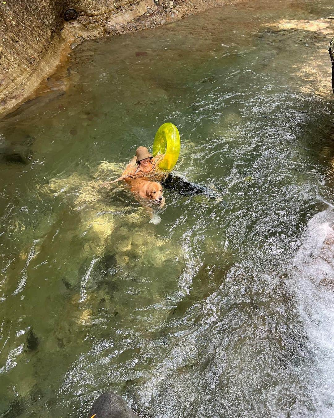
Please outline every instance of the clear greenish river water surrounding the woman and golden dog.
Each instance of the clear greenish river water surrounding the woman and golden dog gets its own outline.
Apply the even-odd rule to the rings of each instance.
[[[334,416],[332,1],[87,42],[0,122],[0,413]],[[175,123],[161,222],[117,184]]]

